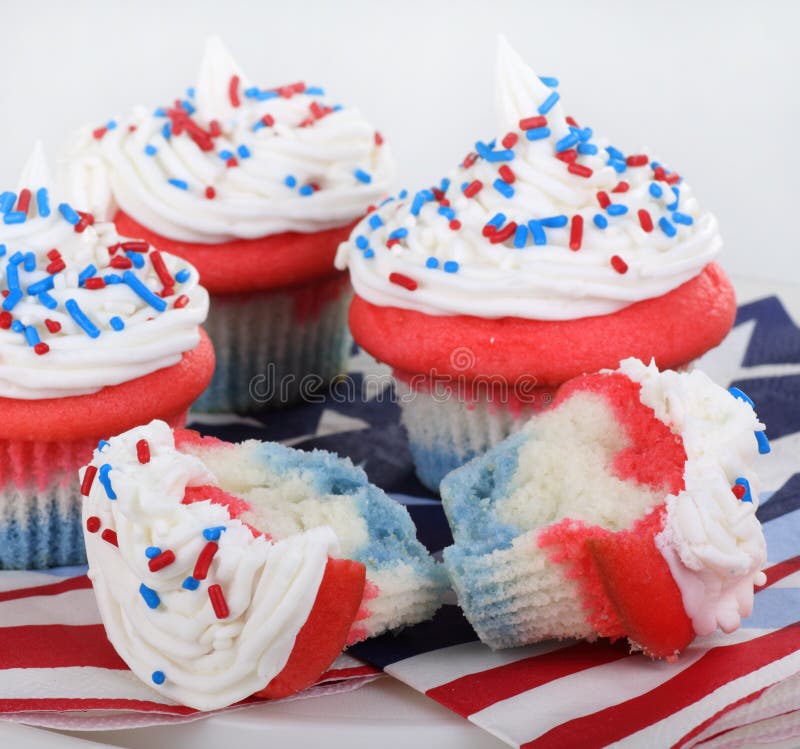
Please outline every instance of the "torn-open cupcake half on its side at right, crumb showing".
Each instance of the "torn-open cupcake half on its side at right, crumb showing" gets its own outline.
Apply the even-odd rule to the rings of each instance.
[[[670,658],[734,631],[766,580],[765,452],[749,399],[699,370],[626,359],[570,380],[442,482],[464,613],[493,648],[627,637]]]

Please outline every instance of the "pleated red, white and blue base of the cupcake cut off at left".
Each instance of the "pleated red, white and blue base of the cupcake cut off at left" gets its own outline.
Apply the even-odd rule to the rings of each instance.
[[[182,426],[186,413],[167,421]],[[0,440],[0,569],[85,564],[78,470],[110,436]]]

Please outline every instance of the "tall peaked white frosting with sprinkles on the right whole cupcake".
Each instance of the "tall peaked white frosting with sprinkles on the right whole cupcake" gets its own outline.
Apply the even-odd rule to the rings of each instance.
[[[336,264],[349,265],[361,297],[432,315],[572,319],[660,296],[696,276],[717,255],[716,219],[700,210],[686,182],[670,184],[678,176],[653,167],[646,150],[639,154],[648,154],[646,164],[627,165],[620,152],[607,150],[607,141],[571,126],[560,100],[552,104],[555,89],[502,39],[496,85],[500,136],[494,146],[480,144],[482,155],[470,163],[471,155],[443,180],[435,188],[440,194],[433,188],[401,193],[378,210],[378,218],[362,220],[341,245]],[[523,129],[520,121],[542,116],[539,112],[546,118],[539,127],[548,128],[549,136],[529,140],[529,130],[544,131]],[[516,138],[513,145],[503,143],[506,134]],[[579,171],[591,170],[590,176],[570,172],[575,167],[557,158],[564,138],[576,141],[571,146],[578,149],[575,164]],[[628,189],[614,192],[623,181]],[[477,182],[482,187],[468,197],[465,187]],[[679,190],[677,200],[673,187]],[[640,219],[642,210],[652,222],[650,231],[644,228],[646,218]],[[520,234],[490,241],[484,228],[498,214],[503,216],[499,229],[513,222]],[[571,248],[575,216],[583,220],[577,250]],[[548,222],[553,217],[563,218]],[[662,219],[668,222],[664,228]],[[564,225],[547,225],[559,222]],[[524,246],[516,246],[515,239]],[[535,243],[542,239],[546,243]],[[391,282],[393,273],[411,279],[416,288]]]

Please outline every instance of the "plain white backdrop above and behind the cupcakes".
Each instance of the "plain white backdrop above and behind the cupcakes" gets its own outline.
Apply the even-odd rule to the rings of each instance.
[[[194,83],[217,33],[254,83],[296,80],[384,133],[398,189],[449,172],[495,135],[498,32],[568,112],[685,175],[719,217],[738,278],[800,281],[800,2],[785,0],[0,0],[0,186],[35,138],[69,133]],[[652,149],[652,150],[649,150]]]

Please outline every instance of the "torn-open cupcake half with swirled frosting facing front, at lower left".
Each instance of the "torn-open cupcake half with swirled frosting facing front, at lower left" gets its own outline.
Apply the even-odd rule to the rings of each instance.
[[[109,640],[198,710],[310,686],[345,645],[432,616],[446,587],[405,508],[330,453],[153,421],[98,447],[82,483]]]

